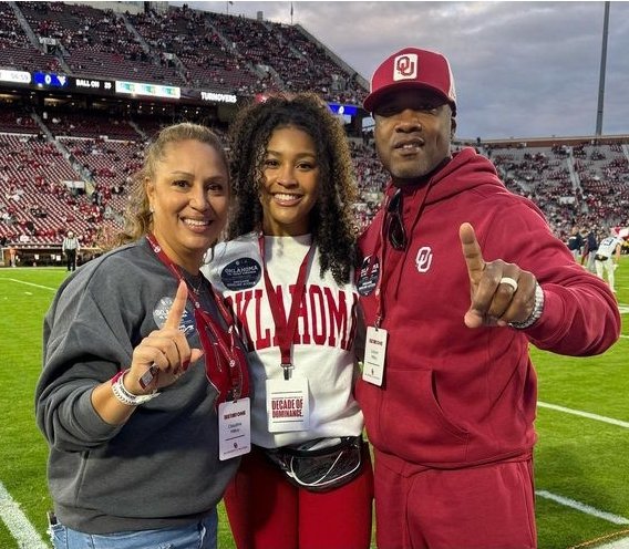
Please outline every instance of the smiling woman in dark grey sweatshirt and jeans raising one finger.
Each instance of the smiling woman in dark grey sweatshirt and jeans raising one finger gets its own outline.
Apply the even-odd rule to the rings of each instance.
[[[54,298],[35,403],[58,549],[216,548],[216,505],[239,464],[219,455],[217,407],[248,401],[235,322],[199,271],[228,200],[214,133],[162,130],[136,175],[128,244]]]

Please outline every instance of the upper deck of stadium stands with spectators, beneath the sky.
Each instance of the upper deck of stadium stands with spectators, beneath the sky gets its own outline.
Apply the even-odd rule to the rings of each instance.
[[[310,89],[352,104],[367,92],[355,71],[298,25],[156,6],[116,13],[63,2],[0,2],[0,66],[240,95]]]

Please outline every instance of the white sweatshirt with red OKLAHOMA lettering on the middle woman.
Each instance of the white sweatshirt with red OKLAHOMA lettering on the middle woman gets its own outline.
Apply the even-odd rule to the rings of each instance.
[[[363,417],[352,386],[358,292],[351,281],[339,287],[330,271],[320,277],[318,249],[308,266],[306,292],[291,348],[295,372],[308,380],[310,426],[308,431],[269,433],[266,380],[281,380],[283,371],[258,239],[258,234],[250,232],[217,245],[214,257],[202,268],[214,288],[230,301],[248,339],[251,442],[272,448],[319,437],[361,434]],[[287,315],[292,302],[290,287],[297,281],[310,244],[310,235],[265,237],[266,267],[274,288],[281,287],[278,297]]]

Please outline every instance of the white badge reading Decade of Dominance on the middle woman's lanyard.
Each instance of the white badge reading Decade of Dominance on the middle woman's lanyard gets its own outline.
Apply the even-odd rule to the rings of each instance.
[[[306,431],[310,426],[308,380],[267,380],[267,416],[270,433]]]

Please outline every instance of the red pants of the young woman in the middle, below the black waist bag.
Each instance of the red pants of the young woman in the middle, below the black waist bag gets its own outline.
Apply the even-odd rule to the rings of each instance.
[[[254,447],[225,493],[238,549],[369,548],[373,473],[367,444],[363,449],[355,479],[316,494],[292,486]]]

